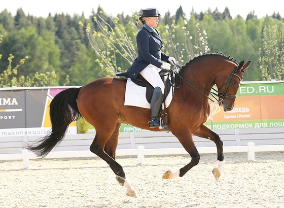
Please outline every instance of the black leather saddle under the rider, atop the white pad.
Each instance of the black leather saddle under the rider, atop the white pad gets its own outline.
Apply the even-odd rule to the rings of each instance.
[[[172,73],[172,71],[163,69],[159,72],[159,74],[165,85],[165,91],[164,91],[164,100],[165,100],[168,93],[170,92],[170,87],[173,86],[174,84],[174,73]],[[141,87],[146,87],[146,99],[150,103],[154,92],[154,87],[140,74],[137,76],[136,79],[131,79],[131,80],[136,85],[139,85]]]

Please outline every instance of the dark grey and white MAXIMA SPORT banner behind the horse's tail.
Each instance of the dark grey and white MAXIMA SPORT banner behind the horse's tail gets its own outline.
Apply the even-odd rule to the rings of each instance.
[[[62,90],[0,90],[0,136],[46,135],[51,130],[50,102]],[[69,125],[67,133],[77,133],[75,122]]]

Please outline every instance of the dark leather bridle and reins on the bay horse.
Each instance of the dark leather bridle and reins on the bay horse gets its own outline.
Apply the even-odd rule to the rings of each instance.
[[[179,66],[179,67],[181,68],[181,66]],[[236,67],[235,67],[234,70],[232,71],[230,77],[221,85],[220,89],[221,89],[225,84],[227,84],[227,85],[226,85],[226,88],[225,88],[225,90],[224,90],[224,92],[223,92],[223,93],[218,93],[218,94],[215,93],[215,92],[218,92],[218,90],[216,90],[216,89],[213,88],[213,87],[212,87],[212,90],[214,90],[215,92],[212,92],[211,90],[207,90],[206,88],[204,88],[204,87],[202,87],[202,86],[200,86],[200,85],[198,85],[198,84],[196,84],[196,83],[190,81],[189,79],[185,78],[185,77],[182,75],[182,72],[181,72],[181,71],[179,71],[179,73],[176,74],[176,75],[179,75],[179,77],[180,77],[182,80],[184,80],[184,81],[185,81],[186,83],[188,83],[190,86],[192,86],[192,87],[195,88],[197,91],[199,91],[201,94],[203,94],[204,96],[206,96],[206,97],[207,97],[208,99],[210,99],[212,102],[215,102],[215,100],[211,99],[209,96],[207,96],[206,94],[204,94],[204,93],[203,93],[200,89],[198,89],[198,88],[201,88],[201,89],[203,89],[203,90],[209,92],[209,94],[210,94],[214,99],[216,99],[216,101],[218,100],[219,105],[221,105],[221,102],[224,101],[226,97],[233,98],[233,99],[236,99],[236,97],[237,97],[236,95],[227,94],[227,90],[228,90],[228,88],[229,88],[230,82],[231,82],[232,79],[233,79],[233,76],[238,77],[239,80],[242,81],[242,79],[241,79],[238,75],[235,74],[237,68],[238,68],[238,65],[236,65]],[[243,70],[241,70],[241,72],[244,73]],[[179,87],[180,87],[180,86],[179,86]],[[177,87],[177,88],[179,88],[179,87]],[[218,99],[217,99],[216,96],[218,97]],[[184,98],[184,100],[187,100],[187,99]]]

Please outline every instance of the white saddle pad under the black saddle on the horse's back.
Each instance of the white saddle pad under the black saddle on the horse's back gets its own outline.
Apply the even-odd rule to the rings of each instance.
[[[172,87],[170,92],[166,97],[166,108],[170,105],[172,100]],[[146,87],[141,87],[136,85],[130,78],[126,82],[126,91],[125,91],[125,106],[136,106],[140,108],[150,109],[150,103],[146,99]],[[162,105],[164,109],[164,105]]]

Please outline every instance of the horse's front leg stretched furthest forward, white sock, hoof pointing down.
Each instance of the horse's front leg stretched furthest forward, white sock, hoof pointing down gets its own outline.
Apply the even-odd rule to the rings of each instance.
[[[204,124],[199,126],[192,133],[194,135],[202,137],[202,138],[208,138],[209,140],[213,141],[216,144],[216,147],[217,147],[217,167],[213,168],[212,173],[213,173],[216,181],[218,181],[218,179],[221,176],[223,166],[225,164],[224,153],[223,153],[223,141],[221,140],[220,136],[217,133],[211,131]]]

